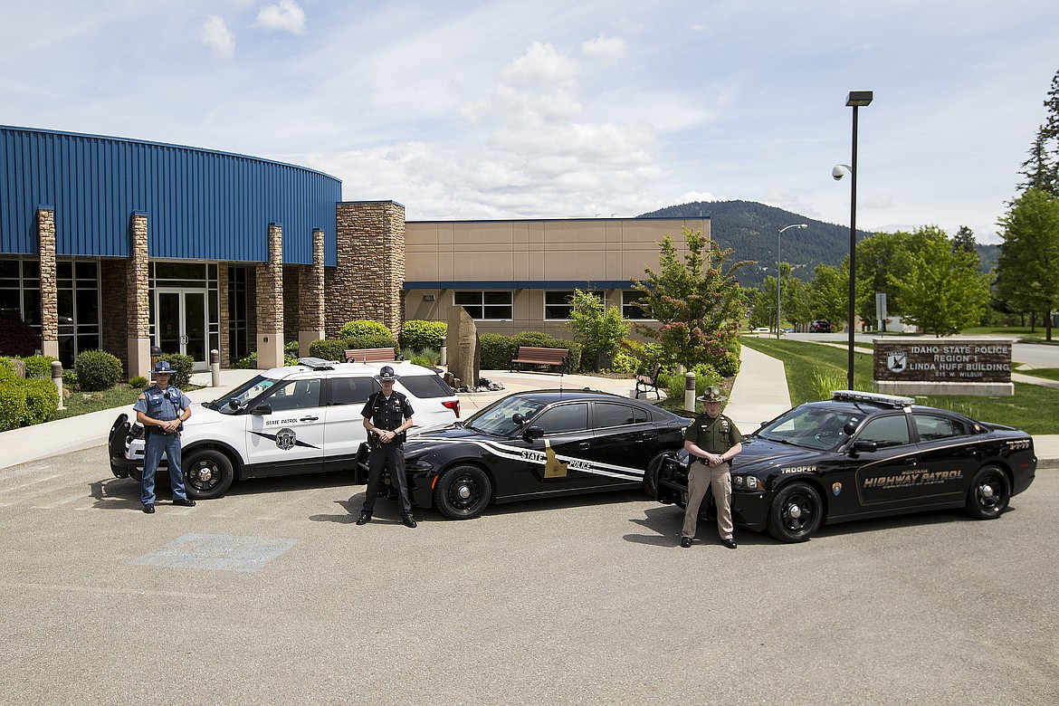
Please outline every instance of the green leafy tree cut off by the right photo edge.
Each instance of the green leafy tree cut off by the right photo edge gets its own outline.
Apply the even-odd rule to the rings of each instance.
[[[1000,219],[1004,242],[997,261],[997,293],[1012,311],[1044,316],[1052,340],[1052,312],[1059,308],[1059,199],[1028,188]]]

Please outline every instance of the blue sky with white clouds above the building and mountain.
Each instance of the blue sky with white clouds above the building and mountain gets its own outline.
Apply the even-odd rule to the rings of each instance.
[[[340,178],[410,220],[746,199],[995,241],[1059,69],[1055,0],[36,0],[0,7],[0,124]]]

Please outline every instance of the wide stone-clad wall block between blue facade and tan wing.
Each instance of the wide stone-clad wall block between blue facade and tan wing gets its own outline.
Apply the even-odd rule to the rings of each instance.
[[[405,206],[394,201],[343,202],[336,207],[338,266],[326,276],[326,331],[369,319],[396,336],[403,320]]]

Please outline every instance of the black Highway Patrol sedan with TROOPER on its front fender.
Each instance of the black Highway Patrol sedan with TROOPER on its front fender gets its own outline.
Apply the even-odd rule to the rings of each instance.
[[[665,459],[660,502],[685,504],[687,460],[683,451]],[[732,461],[732,518],[783,542],[805,541],[823,523],[922,510],[966,508],[991,520],[1036,469],[1025,432],[909,397],[837,391],[743,440]]]

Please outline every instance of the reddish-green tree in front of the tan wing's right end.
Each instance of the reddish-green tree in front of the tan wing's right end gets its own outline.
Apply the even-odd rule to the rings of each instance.
[[[686,368],[716,364],[730,349],[738,350],[739,323],[746,307],[733,276],[747,261],[732,263],[731,250],[683,229],[687,252],[681,257],[669,234],[663,238],[659,272],[645,268],[647,277],[634,280],[643,292],[641,307],[660,322],[658,328],[633,324],[636,332],[654,339],[670,362]]]

